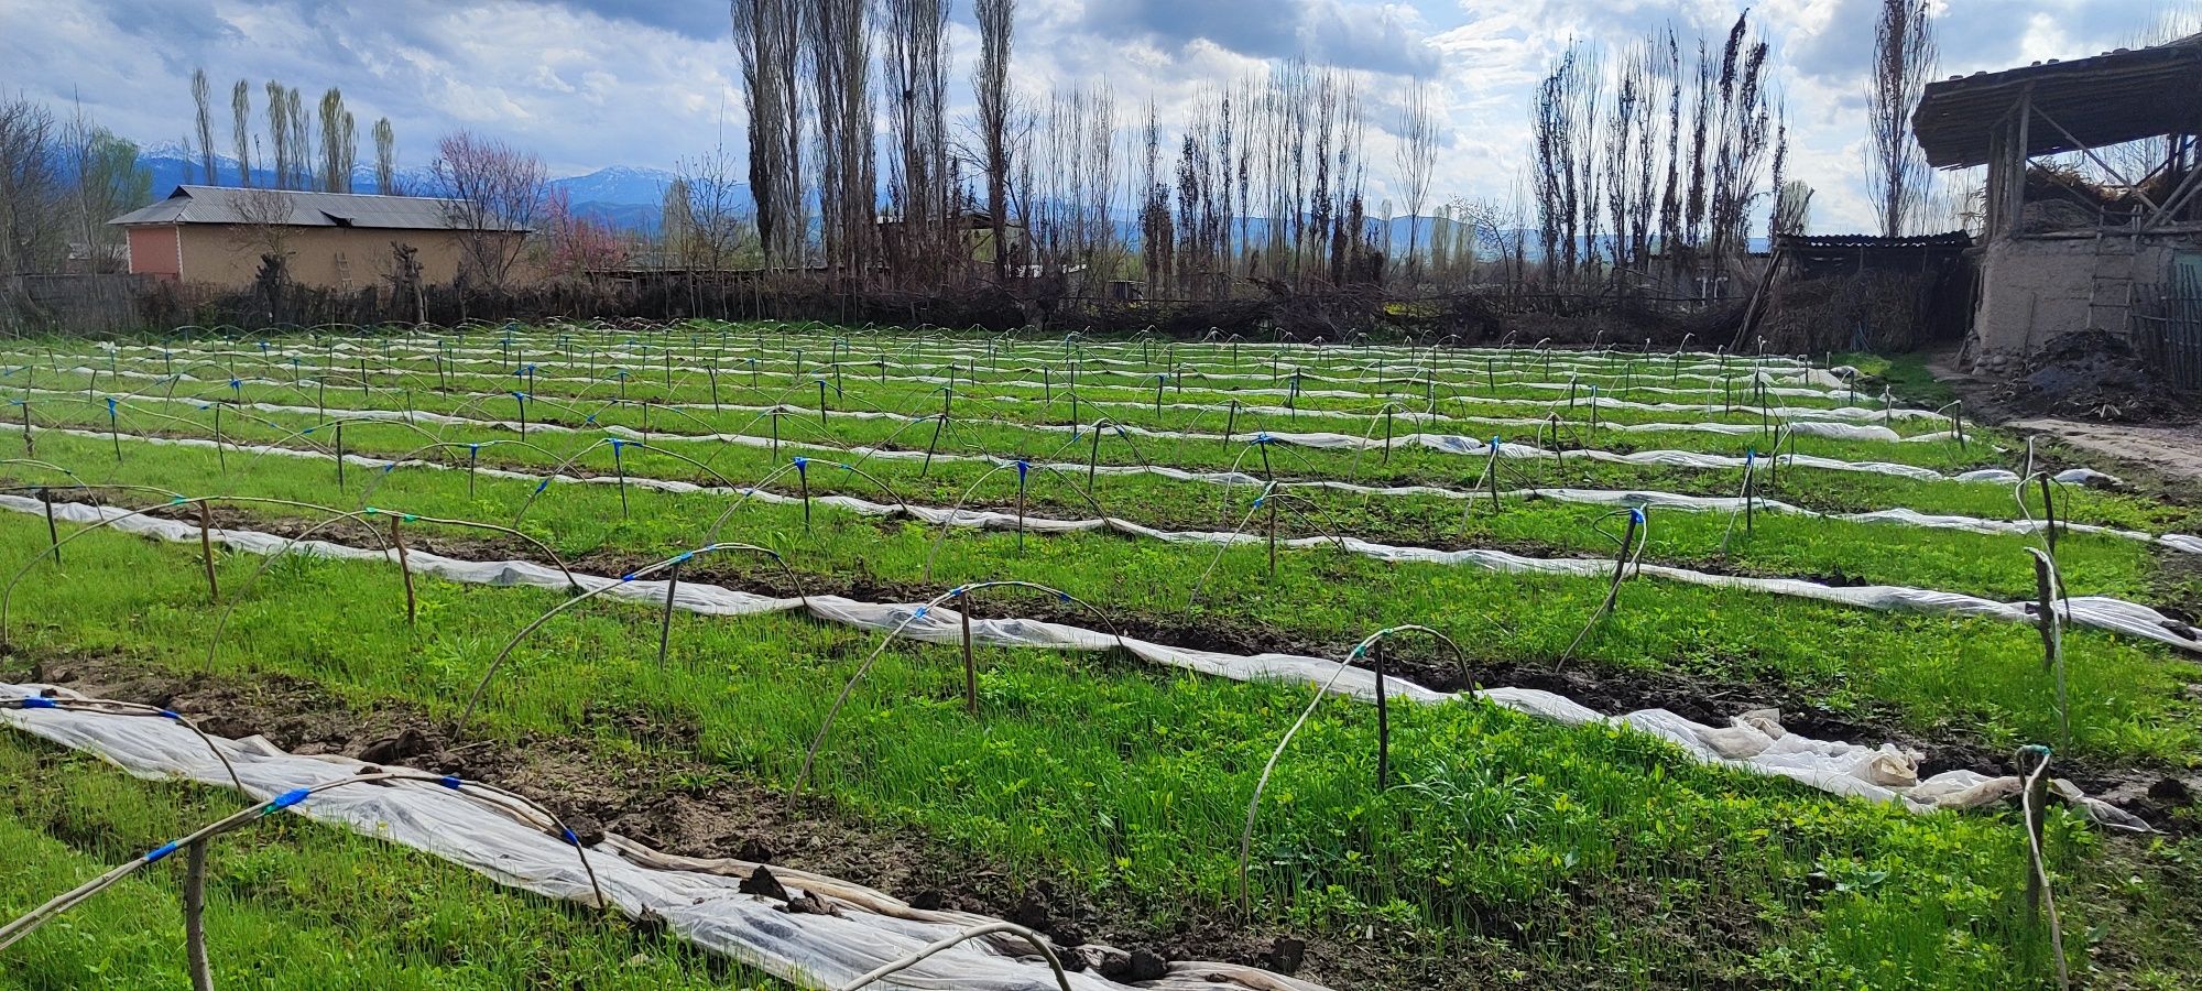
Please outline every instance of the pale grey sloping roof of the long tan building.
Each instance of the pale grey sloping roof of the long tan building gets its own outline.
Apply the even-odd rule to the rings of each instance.
[[[110,225],[284,225],[449,231],[458,200],[432,196],[324,194],[178,185],[165,200],[123,214]],[[495,225],[491,225],[495,227]]]

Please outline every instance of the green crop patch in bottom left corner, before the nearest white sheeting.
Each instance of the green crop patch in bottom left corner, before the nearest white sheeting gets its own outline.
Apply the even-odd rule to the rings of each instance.
[[[0,733],[0,775],[11,782],[0,791],[7,916],[244,804],[229,791],[139,782],[13,731]],[[11,947],[0,987],[187,987],[181,861],[141,870]],[[216,841],[205,918],[216,987],[784,987],[625,918],[297,817]]]

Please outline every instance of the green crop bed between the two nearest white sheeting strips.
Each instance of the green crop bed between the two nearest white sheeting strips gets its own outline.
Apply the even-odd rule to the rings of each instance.
[[[11,553],[37,546],[29,526],[0,531]],[[203,667],[203,588],[187,548],[119,535],[73,548],[77,581],[42,584],[20,603],[40,617],[13,630],[24,650],[126,650]],[[229,588],[251,564],[222,564]],[[506,630],[555,601],[425,581],[425,619],[410,632],[394,621],[390,575],[374,568],[286,562],[275,577],[240,606],[214,672],[295,674],[361,703],[405,698],[440,714]],[[705,758],[784,782],[872,643],[788,617],[676,617],[680,663],[658,674],[652,632],[652,610],[632,606],[546,628],[491,691],[484,729],[617,738],[597,716],[632,711],[694,725]],[[953,650],[890,650],[841,718],[819,786],[863,819],[916,826],[1158,914],[1231,903],[1244,797],[1306,687],[1009,650],[984,650],[982,665],[984,709],[971,720],[956,700]],[[1922,987],[1986,987],[2008,976],[2013,954],[2039,973],[2039,945],[2015,921],[2021,861],[2008,815],[1918,817],[1828,799],[1696,766],[1636,733],[1484,705],[1396,711],[1405,784],[1378,793],[1372,722],[1367,707],[1328,705],[1282,762],[1255,835],[1264,914],[1321,927],[1383,921],[1434,947],[1473,945],[1495,914],[1530,927],[1519,934],[1530,960],[1625,960],[1645,976],[1823,982],[1876,945],[1911,949],[1876,954],[1863,973]],[[2094,835],[2054,821],[2061,870],[2085,872]],[[1874,881],[1828,887],[1814,874]],[[1748,918],[1740,945],[1726,934],[1733,912]],[[2076,914],[2068,925],[2083,934],[2118,921]]]

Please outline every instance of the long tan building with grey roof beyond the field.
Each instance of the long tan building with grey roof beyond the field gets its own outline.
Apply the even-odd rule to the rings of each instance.
[[[528,231],[476,229],[465,216],[462,203],[427,196],[178,185],[108,222],[128,231],[137,275],[242,288],[264,255],[282,255],[295,284],[355,291],[401,277],[407,249],[421,284],[447,284],[469,264],[509,266]]]

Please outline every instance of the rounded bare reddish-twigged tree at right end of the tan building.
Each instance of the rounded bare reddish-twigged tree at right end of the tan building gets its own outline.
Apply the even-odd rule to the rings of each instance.
[[[432,174],[449,196],[445,222],[458,233],[460,277],[502,293],[544,205],[542,159],[456,130],[436,145]]]

